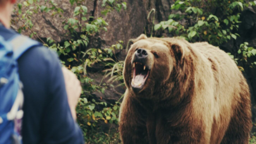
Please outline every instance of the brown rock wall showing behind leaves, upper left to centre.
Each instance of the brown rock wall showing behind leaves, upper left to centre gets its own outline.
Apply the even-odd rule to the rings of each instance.
[[[24,1],[25,0],[20,0],[19,2],[23,3]],[[104,9],[102,8],[102,1],[85,1],[83,4],[88,8],[87,17],[102,17],[109,23],[107,32],[102,30],[99,33],[98,36],[102,40],[102,45],[97,46],[110,47],[116,44],[118,40],[123,40],[124,45],[126,45],[129,39],[138,37],[138,35],[143,33],[144,28],[147,27],[147,15],[152,8],[156,9],[155,23],[158,23],[162,20],[168,20],[168,16],[171,13],[171,4],[174,3],[168,0],[125,0],[123,2],[126,2],[126,10],[121,10],[120,12],[114,10],[107,16],[101,15],[101,11]],[[55,3],[58,4],[57,7],[64,10],[63,17],[60,18],[59,15],[51,16],[51,11],[50,13],[41,13],[39,11],[39,13],[32,15],[31,20],[34,24],[32,30],[37,32],[40,38],[52,37],[56,42],[61,42],[70,39],[70,35],[65,35],[67,31],[64,30],[62,22],[64,18],[73,18],[75,5],[71,6],[68,0],[55,1]],[[40,1],[39,5],[45,5],[44,1]],[[49,3],[46,3],[45,6],[50,7]],[[28,8],[22,8],[22,13],[25,13],[27,9]],[[13,13],[13,18],[17,20],[15,13]],[[18,21],[17,23],[13,23],[11,27],[18,30],[21,25],[23,25],[23,22]],[[24,35],[29,35],[30,33],[30,30],[23,32]],[[33,38],[37,39],[35,35]]]

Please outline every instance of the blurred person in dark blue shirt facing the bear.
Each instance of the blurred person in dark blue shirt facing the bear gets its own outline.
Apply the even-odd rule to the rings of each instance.
[[[0,0],[0,35],[9,40],[19,35],[10,29],[16,0]],[[23,83],[23,143],[84,143],[75,107],[82,88],[68,69],[61,68],[56,53],[46,47],[28,49],[19,59]]]

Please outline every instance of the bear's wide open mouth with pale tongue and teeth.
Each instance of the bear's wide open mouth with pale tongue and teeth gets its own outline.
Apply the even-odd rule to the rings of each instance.
[[[131,81],[131,87],[142,90],[145,81],[149,77],[150,69],[142,63],[133,63],[133,80]]]

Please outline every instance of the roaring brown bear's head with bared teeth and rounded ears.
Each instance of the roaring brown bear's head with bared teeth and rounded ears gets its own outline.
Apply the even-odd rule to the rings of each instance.
[[[133,40],[123,71],[126,87],[137,96],[150,98],[162,91],[162,85],[171,85],[172,73],[178,70],[185,54],[186,43],[182,41],[143,34]]]

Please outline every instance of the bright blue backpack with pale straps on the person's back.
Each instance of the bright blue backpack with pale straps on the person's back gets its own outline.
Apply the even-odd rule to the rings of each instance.
[[[18,58],[28,49],[42,45],[22,35],[4,40],[0,35],[0,144],[21,144],[23,92]]]

